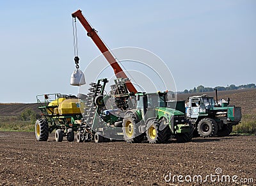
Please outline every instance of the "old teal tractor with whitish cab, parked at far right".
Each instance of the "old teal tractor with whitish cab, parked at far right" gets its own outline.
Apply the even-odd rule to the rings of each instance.
[[[216,105],[207,95],[189,97],[186,117],[197,129],[194,136],[228,136],[242,118],[241,107],[230,106],[229,101]]]

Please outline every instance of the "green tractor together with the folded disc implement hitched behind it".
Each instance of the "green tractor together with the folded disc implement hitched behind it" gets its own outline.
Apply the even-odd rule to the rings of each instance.
[[[129,93],[124,79],[116,79],[104,95],[107,79],[91,83],[88,97],[82,100],[84,123],[77,132],[77,142],[96,143],[125,140],[140,143],[164,143],[172,136],[179,142],[191,141],[193,126],[185,119],[184,102],[168,102],[167,92]],[[177,110],[177,108],[182,110]],[[183,112],[182,112],[183,111]]]

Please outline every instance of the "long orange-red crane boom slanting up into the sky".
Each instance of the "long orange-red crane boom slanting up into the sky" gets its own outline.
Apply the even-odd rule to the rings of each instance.
[[[124,73],[124,71],[122,70],[122,68],[120,67],[120,65],[118,65],[118,61],[116,61],[116,59],[114,58],[114,56],[111,54],[111,52],[109,51],[108,47],[106,47],[106,45],[104,44],[104,42],[102,42],[102,40],[100,39],[99,35],[97,34],[97,31],[95,31],[95,29],[92,28],[92,26],[90,26],[89,22],[85,19],[85,17],[82,14],[81,10],[77,10],[76,12],[72,13],[72,17],[76,18],[81,22],[81,24],[83,25],[84,29],[86,29],[87,31],[87,36],[89,36],[90,38],[92,38],[93,42],[95,43],[95,45],[97,45],[98,49],[100,50],[100,52],[102,52],[102,54],[104,55],[104,57],[107,59],[108,63],[112,66],[115,75],[117,78],[124,78],[124,79],[128,79],[127,75]],[[127,89],[132,93],[137,93],[137,89],[133,86],[133,84],[131,83],[131,81],[126,81],[125,82]]]

